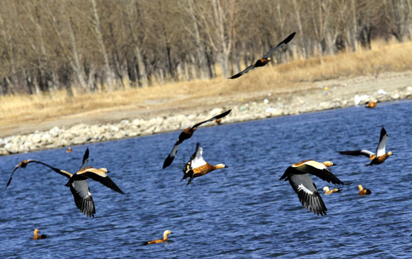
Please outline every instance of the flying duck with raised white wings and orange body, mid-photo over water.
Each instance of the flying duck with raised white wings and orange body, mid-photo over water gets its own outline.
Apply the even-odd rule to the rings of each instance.
[[[183,168],[183,178],[181,181],[186,179],[187,177],[190,177],[189,181],[187,182],[187,185],[192,183],[192,180],[196,177],[201,177],[202,175],[207,174],[208,172],[221,169],[221,168],[227,168],[228,166],[225,166],[224,164],[217,164],[216,166],[211,166],[211,164],[207,163],[203,157],[203,148],[200,147],[200,144],[196,144],[196,151],[190,157],[190,161],[187,162],[185,165],[185,168]]]

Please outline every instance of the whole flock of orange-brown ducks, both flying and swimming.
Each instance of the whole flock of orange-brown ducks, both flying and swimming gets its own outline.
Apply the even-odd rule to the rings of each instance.
[[[255,67],[262,67],[266,65],[269,61],[271,61],[270,57],[273,55],[273,53],[277,49],[284,47],[289,41],[292,40],[294,36],[295,32],[293,32],[293,34],[290,34],[286,39],[284,39],[284,41],[282,41],[276,47],[271,49],[268,53],[266,53],[254,64],[250,65],[240,73],[231,76],[231,78],[238,78]],[[374,106],[376,106],[376,103],[372,104],[369,108],[374,108]],[[229,115],[230,112],[231,110],[225,111],[224,113],[211,117],[209,120],[205,120],[203,122],[194,124],[189,128],[185,128],[185,130],[183,130],[180,133],[178,139],[174,143],[174,146],[170,151],[170,154],[168,155],[168,157],[166,157],[165,161],[163,162],[163,169],[167,168],[172,164],[174,157],[176,156],[176,153],[178,151],[179,145],[182,144],[183,141],[185,141],[186,139],[192,137],[194,131],[196,131],[196,128],[198,128],[198,126],[201,126],[206,122],[213,121],[216,121],[216,123],[220,124],[222,118]],[[380,131],[379,144],[376,148],[376,153],[364,149],[339,151],[339,153],[343,155],[363,155],[365,157],[368,157],[370,162],[366,166],[382,164],[390,155],[392,155],[391,151],[389,151],[388,153],[386,153],[385,151],[387,139],[387,132],[385,131],[385,128],[382,127]],[[71,148],[68,148],[67,152],[71,152]],[[65,186],[70,188],[71,194],[73,194],[74,203],[76,204],[76,207],[78,207],[78,210],[80,210],[80,212],[82,212],[84,215],[88,217],[94,217],[95,204],[93,201],[93,196],[91,195],[89,189],[89,185],[87,184],[87,179],[98,181],[102,183],[102,185],[105,185],[107,188],[110,188],[111,190],[118,192],[119,194],[124,194],[124,192],[115,184],[115,182],[110,177],[108,177],[108,170],[106,168],[93,168],[91,166],[87,166],[88,160],[89,148],[87,148],[83,155],[82,166],[80,167],[80,170],[74,173],[67,172],[66,170],[62,170],[59,168],[55,168],[54,166],[45,164],[42,161],[34,159],[23,160],[14,167],[14,170],[12,171],[6,188],[10,185],[14,172],[16,172],[18,168],[25,168],[28,164],[32,163],[41,164],[43,166],[46,166],[47,168],[50,168],[54,172],[57,172],[58,174],[61,174],[62,176],[66,177],[68,181]],[[302,205],[304,205],[304,207],[306,207],[306,209],[310,210],[310,212],[313,212],[317,215],[325,215],[327,208],[325,207],[325,203],[323,203],[323,200],[319,192],[317,191],[317,187],[309,174],[319,177],[320,179],[322,179],[323,181],[327,181],[328,183],[339,185],[345,184],[330,171],[330,167],[332,166],[336,166],[336,164],[334,164],[332,161],[324,161],[323,163],[314,160],[300,161],[296,164],[289,166],[279,180],[284,179],[284,181],[289,181],[293,190],[295,190],[299,198],[299,201]],[[196,150],[194,154],[192,155],[192,157],[190,157],[190,160],[187,162],[187,164],[185,164],[183,168],[183,178],[181,179],[181,181],[189,178],[189,180],[187,181],[187,185],[189,185],[190,183],[192,183],[192,180],[194,178],[201,177],[211,171],[220,170],[222,168],[227,168],[227,166],[225,166],[225,164],[216,164],[216,166],[212,166],[203,159],[203,148],[201,148],[200,144],[198,143],[196,144]],[[359,195],[371,194],[371,191],[368,189],[364,189],[362,185],[358,185],[358,188]],[[325,194],[332,194],[334,192],[341,191],[341,189],[339,188],[333,188],[330,190],[328,186],[325,186],[323,190],[325,191]],[[143,245],[163,243],[166,240],[168,240],[169,234],[172,234],[172,232],[170,232],[170,230],[166,230],[163,233],[162,239],[151,240],[143,243]],[[34,230],[34,239],[46,237],[47,236],[44,234],[38,235],[38,229]]]

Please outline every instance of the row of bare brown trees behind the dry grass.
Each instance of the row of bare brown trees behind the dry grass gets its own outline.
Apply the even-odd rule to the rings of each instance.
[[[0,95],[227,77],[294,31],[278,63],[411,40],[411,18],[412,0],[4,0]]]

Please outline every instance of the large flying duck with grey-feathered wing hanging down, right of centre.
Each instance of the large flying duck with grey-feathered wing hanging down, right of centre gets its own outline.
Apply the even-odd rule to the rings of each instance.
[[[328,168],[330,166],[336,166],[336,164],[333,164],[332,161],[323,163],[314,160],[301,161],[289,166],[279,180],[289,181],[293,190],[297,193],[299,201],[310,212],[326,215],[328,209],[326,209],[325,203],[323,203],[321,195],[309,174],[313,174],[323,181],[328,181],[328,183],[344,184],[332,174]]]

